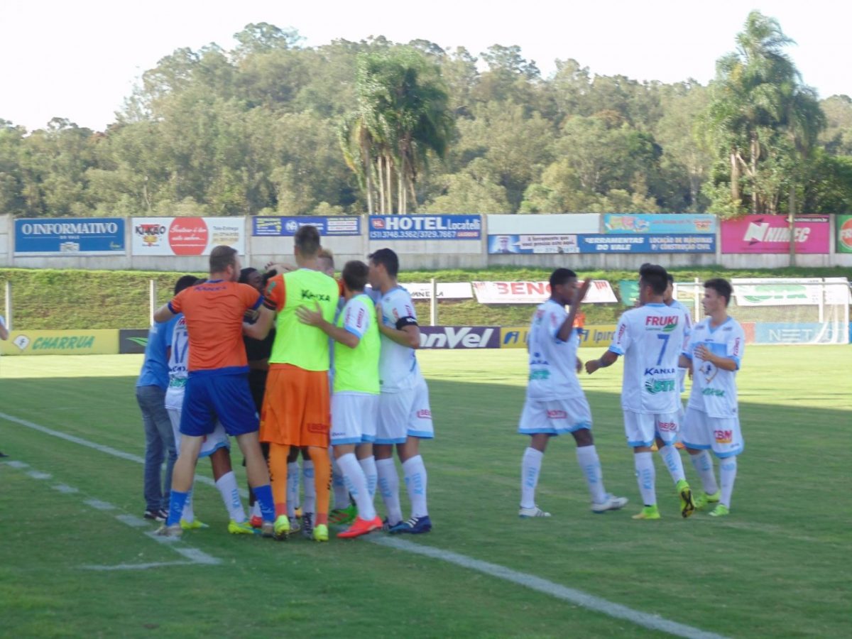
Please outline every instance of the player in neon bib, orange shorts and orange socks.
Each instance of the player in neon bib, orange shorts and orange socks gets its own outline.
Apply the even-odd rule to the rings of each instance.
[[[296,231],[293,252],[297,269],[269,280],[266,309],[277,311],[275,343],[269,358],[267,393],[263,398],[261,439],[269,443],[269,468],[275,501],[275,536],[290,534],[287,516],[287,458],[291,446],[308,446],[314,462],[316,519],[312,536],[328,541],[329,482],[331,460],[328,438],[331,410],[329,402],[329,341],[323,331],[302,324],[296,308],[319,304],[323,319],[334,319],[340,295],[337,282],[320,272],[317,253],[320,233],[304,226]],[[266,337],[272,325],[270,315],[256,324],[244,326],[249,337]]]

